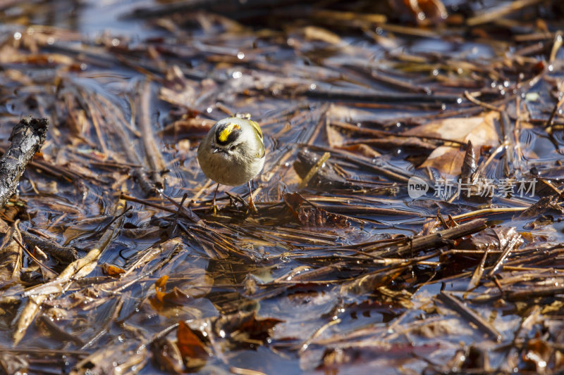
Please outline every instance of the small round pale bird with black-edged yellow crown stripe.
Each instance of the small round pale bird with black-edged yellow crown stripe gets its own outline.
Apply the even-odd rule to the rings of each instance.
[[[217,182],[213,205],[216,208],[216,194],[219,184],[249,185],[249,209],[257,212],[252,201],[250,180],[264,165],[264,143],[257,122],[250,115],[219,120],[209,129],[198,147],[198,162],[204,174]]]

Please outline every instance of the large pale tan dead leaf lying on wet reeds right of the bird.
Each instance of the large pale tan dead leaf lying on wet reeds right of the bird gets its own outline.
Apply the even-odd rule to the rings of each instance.
[[[499,113],[492,110],[474,117],[451,117],[414,127],[403,134],[411,136],[437,136],[467,144],[472,141],[474,153],[480,154],[482,146],[497,146],[499,136],[496,120]],[[442,173],[460,174],[466,151],[458,146],[439,146],[419,168],[433,167]]]

